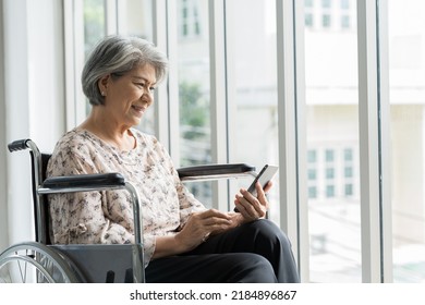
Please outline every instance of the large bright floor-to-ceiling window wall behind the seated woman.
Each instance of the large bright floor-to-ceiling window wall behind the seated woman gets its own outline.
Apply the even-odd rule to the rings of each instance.
[[[167,40],[172,74],[157,100],[161,107],[149,110],[141,130],[159,133],[160,141],[166,134],[179,166],[278,164],[269,217],[288,231],[303,281],[420,282],[425,279],[422,2],[74,0],[73,14],[83,17],[71,24],[72,56],[78,61],[113,33]],[[380,32],[367,40],[372,25]],[[378,45],[365,48],[366,40]],[[365,76],[381,83],[365,85]],[[371,86],[379,95],[369,100],[364,97],[371,97],[365,95]],[[379,113],[385,118],[369,115],[379,106],[376,96],[381,106],[389,96],[390,114]],[[77,101],[69,98],[70,113]],[[377,117],[391,127],[381,129],[379,120],[372,124]],[[374,146],[365,126],[379,135],[376,142],[391,136],[390,169],[379,159],[388,156],[387,146]],[[391,188],[379,184],[388,175],[368,171],[374,156],[380,173],[390,173]],[[368,188],[373,181],[379,183]],[[223,185],[220,198],[230,204],[221,207],[231,208],[234,192],[248,182]],[[190,185],[217,207],[215,186]],[[388,241],[391,249],[385,247]],[[392,274],[384,272],[388,266]]]

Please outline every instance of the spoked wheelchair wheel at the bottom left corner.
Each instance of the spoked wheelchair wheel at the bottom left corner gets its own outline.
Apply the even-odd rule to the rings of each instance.
[[[0,255],[0,283],[81,282],[66,259],[35,242],[12,245]]]

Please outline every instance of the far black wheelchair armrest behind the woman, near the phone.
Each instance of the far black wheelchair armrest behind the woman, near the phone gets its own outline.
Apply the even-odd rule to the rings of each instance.
[[[206,164],[178,170],[181,181],[230,179],[255,175],[255,167],[245,163]]]

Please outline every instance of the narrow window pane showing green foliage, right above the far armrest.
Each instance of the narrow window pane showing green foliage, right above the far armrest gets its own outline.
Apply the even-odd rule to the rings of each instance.
[[[208,2],[179,0],[177,16],[180,162],[182,167],[210,163]],[[187,187],[205,205],[211,204],[210,183],[193,183]]]

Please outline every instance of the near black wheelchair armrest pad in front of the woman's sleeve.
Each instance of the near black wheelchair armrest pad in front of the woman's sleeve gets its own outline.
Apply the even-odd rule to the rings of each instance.
[[[125,179],[120,173],[76,174],[46,179],[38,190],[40,194],[89,192],[124,188]]]

